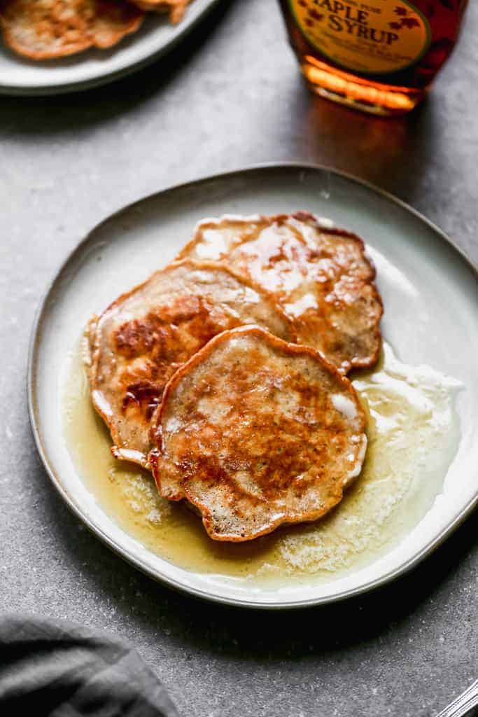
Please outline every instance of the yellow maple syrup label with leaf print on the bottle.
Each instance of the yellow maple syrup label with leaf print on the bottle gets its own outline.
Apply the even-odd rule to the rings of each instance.
[[[405,0],[289,0],[312,47],[355,72],[381,74],[414,65],[429,47],[426,17]]]

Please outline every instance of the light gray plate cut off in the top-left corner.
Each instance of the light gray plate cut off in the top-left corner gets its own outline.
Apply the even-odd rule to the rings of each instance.
[[[0,39],[0,93],[57,95],[103,85],[138,70],[168,52],[219,0],[194,0],[183,20],[171,25],[148,13],[139,31],[110,50],[90,49],[60,60],[34,62],[10,52]]]

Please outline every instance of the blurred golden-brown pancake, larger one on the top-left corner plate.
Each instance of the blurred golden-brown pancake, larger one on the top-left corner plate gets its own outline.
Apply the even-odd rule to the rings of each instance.
[[[32,60],[112,47],[135,32],[143,16],[125,0],[0,0],[6,44]]]

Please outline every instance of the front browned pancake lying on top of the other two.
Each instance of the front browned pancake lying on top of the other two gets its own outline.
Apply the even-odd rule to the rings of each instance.
[[[150,465],[218,541],[247,541],[337,505],[365,457],[350,381],[312,348],[260,328],[221,333],[169,381]]]

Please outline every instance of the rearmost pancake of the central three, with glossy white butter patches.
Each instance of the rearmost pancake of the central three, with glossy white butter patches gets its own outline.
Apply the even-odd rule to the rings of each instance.
[[[178,258],[220,261],[273,293],[299,343],[347,373],[373,366],[383,313],[363,241],[312,214],[206,219]]]

